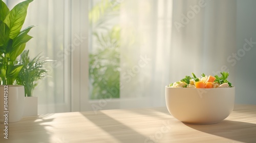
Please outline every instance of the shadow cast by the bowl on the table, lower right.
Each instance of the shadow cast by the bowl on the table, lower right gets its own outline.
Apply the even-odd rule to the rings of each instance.
[[[185,123],[184,123],[185,124]],[[256,141],[256,125],[252,123],[224,120],[217,124],[186,126],[212,135],[217,135],[242,142]]]

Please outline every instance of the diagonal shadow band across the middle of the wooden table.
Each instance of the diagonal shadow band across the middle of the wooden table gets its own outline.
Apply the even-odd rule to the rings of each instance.
[[[84,115],[84,114],[83,114]],[[97,112],[97,115],[85,116],[96,126],[100,127],[106,133],[113,136],[120,142],[131,142],[131,140],[136,140],[137,142],[144,142],[147,138],[146,136],[140,134],[129,126],[115,120],[109,115],[104,114],[101,111]],[[108,141],[107,141],[108,142]]]

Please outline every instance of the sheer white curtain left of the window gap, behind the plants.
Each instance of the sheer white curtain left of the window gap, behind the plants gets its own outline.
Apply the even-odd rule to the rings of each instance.
[[[23,0],[7,0],[12,9]],[[40,54],[55,62],[46,65],[48,77],[40,81],[33,92],[38,97],[38,113],[67,112],[70,104],[70,1],[35,0],[30,3],[23,28],[35,26],[29,33],[33,38],[27,43],[31,58]]]

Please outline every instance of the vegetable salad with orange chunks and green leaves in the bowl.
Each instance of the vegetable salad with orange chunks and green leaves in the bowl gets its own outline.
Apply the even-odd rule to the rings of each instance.
[[[221,72],[221,76],[206,76],[202,73],[202,77],[198,78],[194,73],[193,77],[185,76],[178,82],[171,83],[170,87],[175,88],[227,88],[232,87],[231,83],[227,80],[229,74],[228,72]]]

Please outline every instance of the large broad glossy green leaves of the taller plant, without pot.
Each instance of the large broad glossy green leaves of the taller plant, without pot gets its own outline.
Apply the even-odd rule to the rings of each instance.
[[[31,2],[33,0],[19,3],[10,11],[0,0],[0,83],[2,85],[15,84],[14,81],[23,68],[23,64],[15,64],[15,62],[24,51],[26,43],[32,38],[28,32],[33,26],[20,31]]]

